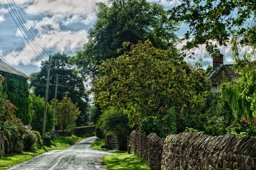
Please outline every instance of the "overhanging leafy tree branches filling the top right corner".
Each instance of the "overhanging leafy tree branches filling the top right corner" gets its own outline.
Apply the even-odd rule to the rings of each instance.
[[[187,48],[205,43],[214,57],[219,52],[213,42],[225,46],[232,43],[237,56],[237,45],[255,47],[255,4],[255,0],[186,0],[173,8],[172,19],[189,25],[186,36],[192,35],[193,40],[188,41]]]

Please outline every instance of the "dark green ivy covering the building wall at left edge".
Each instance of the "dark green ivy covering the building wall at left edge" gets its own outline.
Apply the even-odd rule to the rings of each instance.
[[[8,99],[17,107],[16,115],[24,124],[31,123],[29,113],[29,84],[28,79],[10,73],[1,73],[4,77],[4,92]]]

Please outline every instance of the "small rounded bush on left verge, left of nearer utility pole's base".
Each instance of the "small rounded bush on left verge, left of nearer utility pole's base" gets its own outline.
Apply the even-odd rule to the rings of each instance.
[[[36,135],[28,130],[25,134],[22,136],[24,150],[26,151],[32,151],[36,148]]]

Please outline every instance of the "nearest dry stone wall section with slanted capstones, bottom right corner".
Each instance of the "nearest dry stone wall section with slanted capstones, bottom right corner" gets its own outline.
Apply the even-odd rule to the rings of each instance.
[[[256,138],[181,133],[164,140],[161,169],[256,169]]]

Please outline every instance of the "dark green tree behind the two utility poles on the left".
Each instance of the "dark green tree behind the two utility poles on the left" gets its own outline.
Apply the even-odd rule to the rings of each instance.
[[[56,84],[56,76],[58,79],[58,100],[61,100],[65,95],[70,97],[74,103],[78,104],[81,115],[77,119],[77,125],[84,125],[88,121],[87,114],[87,96],[84,93],[83,79],[75,71],[74,66],[68,61],[65,53],[55,53],[51,56],[51,76],[49,87],[49,101],[54,99],[54,91]],[[47,69],[49,61],[45,60],[41,64],[41,70],[38,73],[31,74],[31,89],[34,90],[36,96],[45,96],[45,84],[47,79]]]

